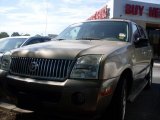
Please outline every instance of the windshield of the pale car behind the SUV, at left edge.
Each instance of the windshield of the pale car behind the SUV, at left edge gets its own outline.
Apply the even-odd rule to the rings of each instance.
[[[0,39],[0,53],[18,48],[27,38],[3,38]]]

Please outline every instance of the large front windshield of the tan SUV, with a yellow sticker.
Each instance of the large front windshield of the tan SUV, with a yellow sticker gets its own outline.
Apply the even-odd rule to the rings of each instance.
[[[128,41],[128,23],[121,21],[92,21],[73,24],[58,40],[115,40]]]

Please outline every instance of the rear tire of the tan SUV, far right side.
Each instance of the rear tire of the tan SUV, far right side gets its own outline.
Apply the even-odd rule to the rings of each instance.
[[[149,73],[146,76],[146,80],[148,81],[147,85],[146,85],[146,89],[150,89],[152,86],[152,74],[153,74],[153,67],[152,65],[150,66],[150,70]]]

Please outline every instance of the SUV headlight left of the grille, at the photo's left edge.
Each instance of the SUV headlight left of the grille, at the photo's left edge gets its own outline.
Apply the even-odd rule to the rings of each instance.
[[[11,53],[10,52],[4,53],[1,60],[2,60],[1,69],[8,71],[11,63]]]

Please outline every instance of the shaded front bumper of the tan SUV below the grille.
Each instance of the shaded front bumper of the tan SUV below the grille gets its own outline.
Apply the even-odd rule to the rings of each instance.
[[[100,96],[101,84],[97,80],[54,82],[8,75],[6,88],[18,101],[23,99],[23,104],[32,102],[31,107],[76,114],[99,113],[108,106],[112,96]]]

